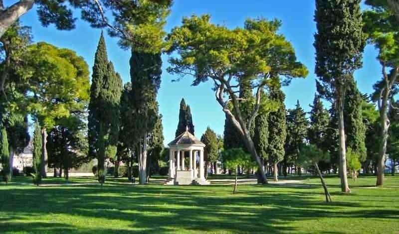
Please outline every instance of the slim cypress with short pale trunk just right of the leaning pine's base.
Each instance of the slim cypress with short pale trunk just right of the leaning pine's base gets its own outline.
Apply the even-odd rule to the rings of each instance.
[[[268,147],[269,161],[273,164],[274,180],[277,181],[277,163],[284,159],[284,142],[287,137],[285,95],[279,87],[270,89],[270,99],[279,104],[278,109],[268,116]]]

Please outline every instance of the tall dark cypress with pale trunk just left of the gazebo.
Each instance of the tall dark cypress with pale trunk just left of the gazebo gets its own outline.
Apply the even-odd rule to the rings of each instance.
[[[148,136],[159,119],[157,92],[161,85],[161,53],[146,53],[132,49],[130,77],[132,82],[133,131],[137,136],[139,183],[147,182]]]

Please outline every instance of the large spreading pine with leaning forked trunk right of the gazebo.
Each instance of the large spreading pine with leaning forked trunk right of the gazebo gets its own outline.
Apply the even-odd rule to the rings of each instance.
[[[194,15],[184,18],[183,25],[172,30],[167,37],[167,52],[178,52],[178,57],[169,59],[171,67],[168,71],[182,76],[193,75],[193,85],[208,79],[213,81],[217,102],[257,162],[261,182],[267,183],[250,132],[259,109],[267,106],[261,105],[261,94],[266,85],[272,86],[271,78],[305,77],[308,71],[296,61],[291,44],[277,33],[280,21],[248,19],[243,28],[228,29],[209,20],[209,15]],[[243,83],[249,83],[251,88],[256,89],[256,98],[247,119],[240,111],[240,100],[236,96],[237,89]],[[223,95],[227,95],[227,99]]]

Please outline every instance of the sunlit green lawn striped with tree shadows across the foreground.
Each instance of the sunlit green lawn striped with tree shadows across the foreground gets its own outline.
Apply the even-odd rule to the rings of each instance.
[[[222,176],[209,179],[221,179]],[[28,178],[0,184],[0,233],[399,233],[399,177],[351,182],[342,194],[338,177],[327,177],[333,203],[324,203],[319,180],[295,185],[131,185],[109,179]],[[73,185],[73,186],[72,186]]]

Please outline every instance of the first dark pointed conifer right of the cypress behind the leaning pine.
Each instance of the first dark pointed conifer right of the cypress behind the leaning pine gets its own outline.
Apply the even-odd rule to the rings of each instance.
[[[286,122],[287,137],[285,140],[284,164],[291,165],[295,163],[298,157],[299,149],[305,143],[309,125],[309,122],[306,118],[306,113],[299,105],[299,100],[297,101],[295,109],[288,110]],[[298,167],[298,174],[300,174],[300,171],[301,168]]]

